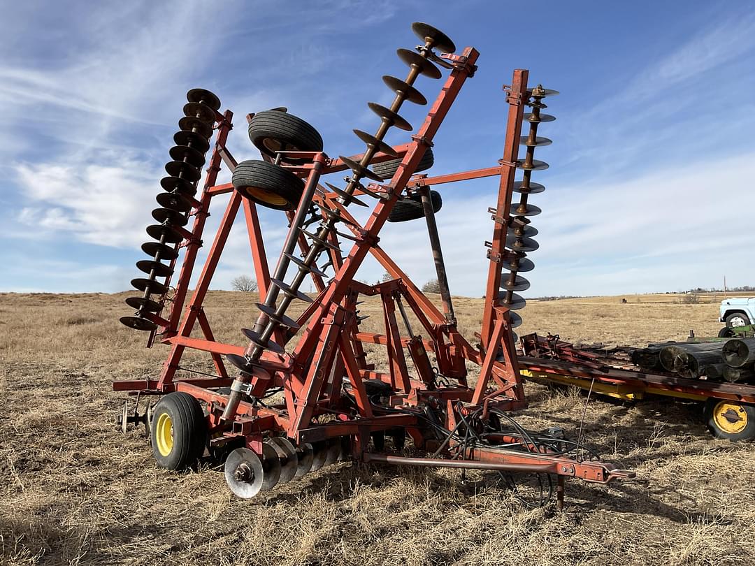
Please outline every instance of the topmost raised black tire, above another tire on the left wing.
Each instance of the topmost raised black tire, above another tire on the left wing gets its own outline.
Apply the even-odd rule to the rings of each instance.
[[[276,157],[276,151],[322,151],[322,137],[318,131],[288,112],[266,110],[257,112],[249,122],[249,140],[264,155]],[[300,163],[302,159],[286,158],[283,161]]]

